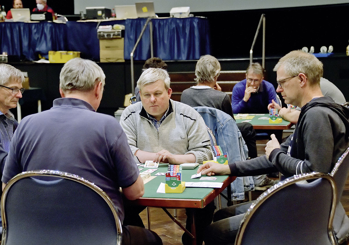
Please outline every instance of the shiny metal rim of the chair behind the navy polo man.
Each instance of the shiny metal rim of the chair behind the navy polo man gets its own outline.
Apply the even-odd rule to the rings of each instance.
[[[8,195],[8,192],[10,191],[12,185],[15,184],[17,181],[24,178],[32,177],[32,176],[54,176],[54,177],[64,178],[64,179],[68,179],[68,180],[86,185],[87,187],[95,191],[99,196],[102,197],[102,199],[110,207],[110,210],[115,219],[115,225],[118,232],[117,245],[121,244],[122,227],[121,227],[121,222],[117,213],[117,208],[114,205],[113,201],[110,199],[110,197],[101,188],[97,187],[97,185],[95,185],[94,183],[89,182],[88,180],[83,179],[82,177],[79,177],[78,175],[75,175],[75,174],[69,174],[65,172],[52,171],[52,170],[37,170],[37,171],[27,171],[27,172],[22,172],[20,174],[17,174],[6,184],[2,192],[2,196],[1,196],[1,216],[2,216],[1,244],[2,245],[6,244],[6,238],[7,238],[7,216],[6,216],[5,204],[6,204],[6,197]]]

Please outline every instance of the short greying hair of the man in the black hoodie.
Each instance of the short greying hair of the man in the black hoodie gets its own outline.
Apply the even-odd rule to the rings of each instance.
[[[281,66],[287,76],[305,74],[310,85],[320,85],[320,77],[324,73],[322,62],[313,54],[304,53],[302,50],[294,50],[283,56],[273,71],[277,71]]]

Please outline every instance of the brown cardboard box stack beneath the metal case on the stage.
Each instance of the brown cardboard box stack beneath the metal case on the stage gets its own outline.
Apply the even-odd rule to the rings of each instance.
[[[99,39],[99,58],[101,62],[125,62],[124,38]]]

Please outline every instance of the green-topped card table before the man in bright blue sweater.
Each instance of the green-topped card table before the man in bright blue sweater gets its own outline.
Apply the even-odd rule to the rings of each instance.
[[[244,114],[246,115],[246,114]],[[252,124],[254,129],[289,129],[292,126],[292,123],[289,121],[286,121],[282,119],[282,122],[280,123],[269,123],[269,114],[247,114],[249,117],[253,116],[253,118],[240,118],[238,114],[234,114],[234,118],[236,120],[236,123],[239,122],[249,122]],[[268,119],[259,119],[262,117],[267,117]]]

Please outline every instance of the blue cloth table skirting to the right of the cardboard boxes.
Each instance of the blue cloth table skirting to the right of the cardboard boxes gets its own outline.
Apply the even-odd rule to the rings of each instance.
[[[163,60],[198,60],[201,55],[210,54],[208,19],[153,18],[154,56]],[[131,52],[146,23],[146,19],[126,19],[125,60],[131,59]],[[149,25],[145,30],[133,56],[134,60],[150,58]]]

